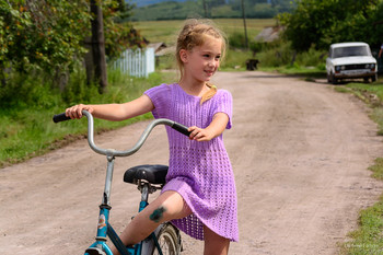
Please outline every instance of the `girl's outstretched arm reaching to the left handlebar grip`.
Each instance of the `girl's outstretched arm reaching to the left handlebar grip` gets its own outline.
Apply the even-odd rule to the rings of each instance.
[[[119,121],[146,114],[153,108],[152,101],[143,94],[137,100],[124,104],[74,105],[66,109],[66,115],[70,118],[81,118],[82,111],[86,109],[96,118]]]

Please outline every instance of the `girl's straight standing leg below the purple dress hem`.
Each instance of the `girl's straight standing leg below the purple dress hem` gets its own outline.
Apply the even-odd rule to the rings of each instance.
[[[228,255],[230,240],[218,235],[209,228],[204,227],[204,255]]]

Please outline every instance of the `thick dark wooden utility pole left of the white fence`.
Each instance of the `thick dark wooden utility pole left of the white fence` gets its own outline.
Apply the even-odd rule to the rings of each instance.
[[[101,8],[101,0],[91,0],[91,13],[92,13],[92,58],[93,67],[91,68],[92,74],[90,76],[95,82],[100,84],[100,92],[103,93],[107,88],[106,77],[106,57],[105,57],[105,38],[104,38],[104,23],[103,11]]]

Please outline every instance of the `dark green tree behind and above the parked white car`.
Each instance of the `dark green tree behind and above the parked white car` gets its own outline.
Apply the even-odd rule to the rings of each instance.
[[[381,0],[301,0],[292,13],[279,15],[285,35],[298,51],[336,42],[371,43],[372,20]],[[304,39],[302,39],[304,38]]]

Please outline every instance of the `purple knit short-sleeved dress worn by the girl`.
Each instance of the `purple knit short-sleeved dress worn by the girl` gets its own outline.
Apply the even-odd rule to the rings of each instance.
[[[161,84],[144,92],[153,102],[153,116],[169,118],[187,127],[206,128],[216,113],[229,116],[232,96],[225,90],[200,105],[200,97],[187,94],[177,83]],[[172,222],[188,235],[204,240],[204,224],[217,234],[239,241],[236,190],[232,166],[222,135],[210,141],[189,140],[166,126],[170,162],[166,185],[177,192],[193,213]]]

